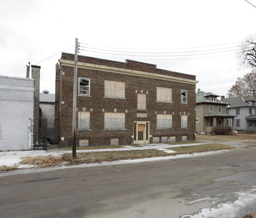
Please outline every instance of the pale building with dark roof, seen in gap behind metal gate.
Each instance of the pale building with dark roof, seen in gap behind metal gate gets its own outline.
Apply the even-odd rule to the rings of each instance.
[[[48,90],[44,90],[39,95],[39,118],[47,119],[47,138],[54,141],[54,107],[55,94],[49,94]]]

